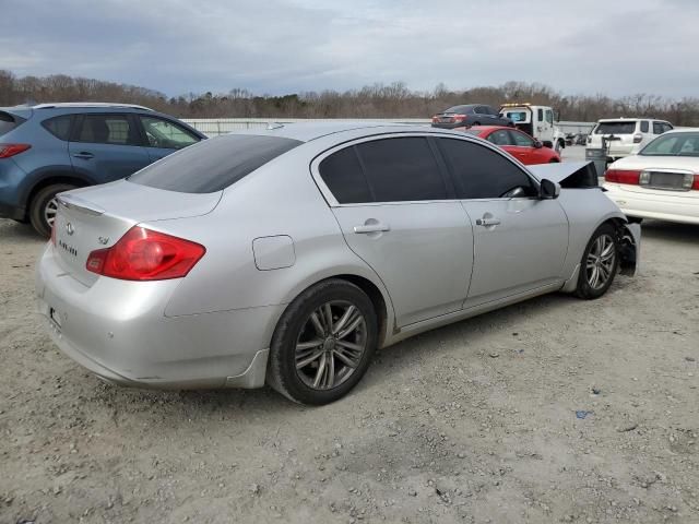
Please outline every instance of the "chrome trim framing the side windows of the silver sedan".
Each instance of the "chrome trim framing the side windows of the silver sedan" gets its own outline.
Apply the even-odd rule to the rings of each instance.
[[[328,202],[328,205],[330,207],[358,207],[358,206],[367,206],[367,205],[412,205],[412,204],[434,204],[434,203],[438,203],[438,202],[491,202],[491,201],[497,201],[497,202],[501,202],[501,201],[509,201],[509,200],[532,200],[535,199],[535,196],[516,196],[516,198],[489,198],[489,199],[439,199],[439,200],[405,200],[405,201],[392,201],[392,202],[358,202],[358,203],[350,203],[350,204],[341,204],[340,202],[337,202],[337,200],[335,199],[334,194],[332,193],[332,191],[330,190],[330,188],[325,184],[323,178],[320,176],[320,170],[318,169],[320,164],[328,158],[330,155],[332,155],[333,153],[336,153],[341,150],[344,150],[346,147],[352,147],[354,145],[357,144],[362,144],[364,142],[372,142],[375,140],[383,140],[383,139],[399,139],[399,138],[410,138],[410,136],[417,136],[417,138],[436,138],[436,139],[451,139],[451,140],[462,140],[464,142],[470,142],[483,147],[487,147],[494,152],[496,152],[498,155],[502,156],[505,159],[507,159],[508,162],[514,164],[517,167],[519,167],[531,180],[534,181],[534,184],[536,187],[541,186],[541,181],[529,170],[526,169],[526,167],[524,166],[524,164],[520,163],[517,158],[513,158],[512,156],[508,155],[507,153],[505,153],[500,147],[491,144],[490,142],[484,140],[484,139],[479,139],[477,136],[474,136],[472,134],[463,134],[463,136],[461,135],[455,135],[452,133],[445,133],[445,132],[425,132],[425,131],[405,131],[405,132],[400,132],[400,131],[391,131],[391,132],[379,132],[377,134],[371,134],[371,135],[367,135],[367,136],[362,136],[358,139],[352,139],[348,140],[346,142],[342,142],[340,144],[335,144],[332,147],[329,147],[328,150],[323,151],[322,153],[319,153],[318,155],[316,155],[313,157],[313,159],[310,163],[310,175],[313,179],[313,182],[316,183],[316,186],[318,187],[318,189],[320,190],[321,194],[323,195],[323,198],[325,199],[325,202]],[[451,176],[451,175],[449,175]]]

